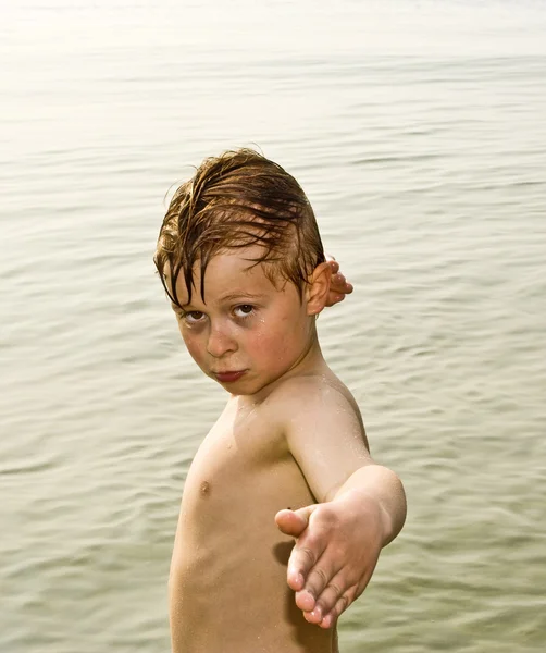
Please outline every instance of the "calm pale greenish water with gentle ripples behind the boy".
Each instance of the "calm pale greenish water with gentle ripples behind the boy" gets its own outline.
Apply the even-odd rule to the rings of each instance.
[[[0,651],[169,650],[225,397],[151,255],[189,164],[255,143],[355,282],[324,350],[409,496],[344,653],[542,652],[546,8],[224,4],[1,4]]]

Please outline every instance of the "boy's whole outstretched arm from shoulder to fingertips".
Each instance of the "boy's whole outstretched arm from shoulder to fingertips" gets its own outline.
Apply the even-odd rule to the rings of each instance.
[[[400,531],[406,498],[398,477],[371,458],[356,407],[340,393],[328,402],[317,391],[314,397],[299,403],[287,438],[321,503],[281,510],[276,522],[296,538],[287,571],[296,604],[308,621],[330,628],[364,591],[382,547]]]

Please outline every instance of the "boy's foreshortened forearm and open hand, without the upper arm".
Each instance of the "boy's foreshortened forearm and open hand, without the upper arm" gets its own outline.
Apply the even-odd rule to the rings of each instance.
[[[288,586],[305,618],[322,628],[368,586],[383,546],[406,519],[398,477],[385,467],[358,469],[330,502],[277,513],[278,528],[296,538],[288,562]]]

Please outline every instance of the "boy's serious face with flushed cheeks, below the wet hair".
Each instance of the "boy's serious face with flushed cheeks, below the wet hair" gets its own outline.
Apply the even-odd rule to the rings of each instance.
[[[313,309],[293,283],[276,286],[261,264],[251,266],[255,247],[228,250],[211,259],[204,273],[204,301],[197,292],[187,304],[182,275],[173,306],[189,354],[228,392],[252,395],[293,373],[317,342]]]

